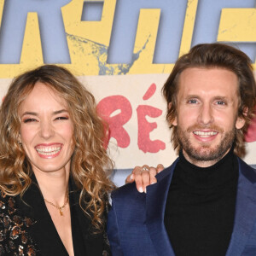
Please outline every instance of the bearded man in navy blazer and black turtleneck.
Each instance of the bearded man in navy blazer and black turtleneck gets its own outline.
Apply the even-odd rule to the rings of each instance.
[[[113,192],[115,255],[256,255],[256,171],[239,157],[253,117],[250,60],[225,44],[180,57],[163,88],[179,158],[157,183]]]

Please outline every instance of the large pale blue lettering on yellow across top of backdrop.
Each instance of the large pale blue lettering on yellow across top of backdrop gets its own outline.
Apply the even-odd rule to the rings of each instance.
[[[0,30],[0,63],[19,63],[28,12],[37,12],[45,63],[70,63],[61,7],[72,0],[5,0]],[[217,40],[221,9],[254,8],[255,0],[198,1],[192,46]],[[93,2],[92,2],[93,3]],[[131,65],[140,9],[160,9],[160,25],[154,51],[154,63],[177,60],[183,33],[187,0],[117,1],[113,19],[108,63]],[[89,8],[90,6],[90,8]],[[86,9],[87,8],[87,9]],[[81,20],[99,20],[102,3],[86,3]],[[84,21],[86,22],[86,21]],[[100,21],[99,21],[100,22]],[[256,44],[236,44],[254,61]],[[104,72],[103,72],[104,73]],[[122,71],[120,72],[122,73]]]

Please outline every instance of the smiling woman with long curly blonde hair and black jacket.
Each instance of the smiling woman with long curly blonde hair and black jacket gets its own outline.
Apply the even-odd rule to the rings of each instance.
[[[14,79],[0,110],[0,255],[108,255],[114,188],[94,97],[62,67]]]

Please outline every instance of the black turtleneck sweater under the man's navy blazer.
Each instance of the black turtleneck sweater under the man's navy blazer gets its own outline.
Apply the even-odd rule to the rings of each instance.
[[[165,225],[177,256],[225,255],[233,230],[238,161],[231,149],[202,168],[182,153],[168,192]]]

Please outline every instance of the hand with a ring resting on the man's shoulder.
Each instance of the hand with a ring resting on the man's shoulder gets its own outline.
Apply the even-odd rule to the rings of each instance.
[[[147,165],[144,166],[136,166],[131,174],[126,177],[125,183],[133,183],[136,182],[137,190],[140,193],[147,191],[146,187],[150,184],[157,183],[155,175],[164,170],[164,166],[159,164],[156,168],[149,167]]]

